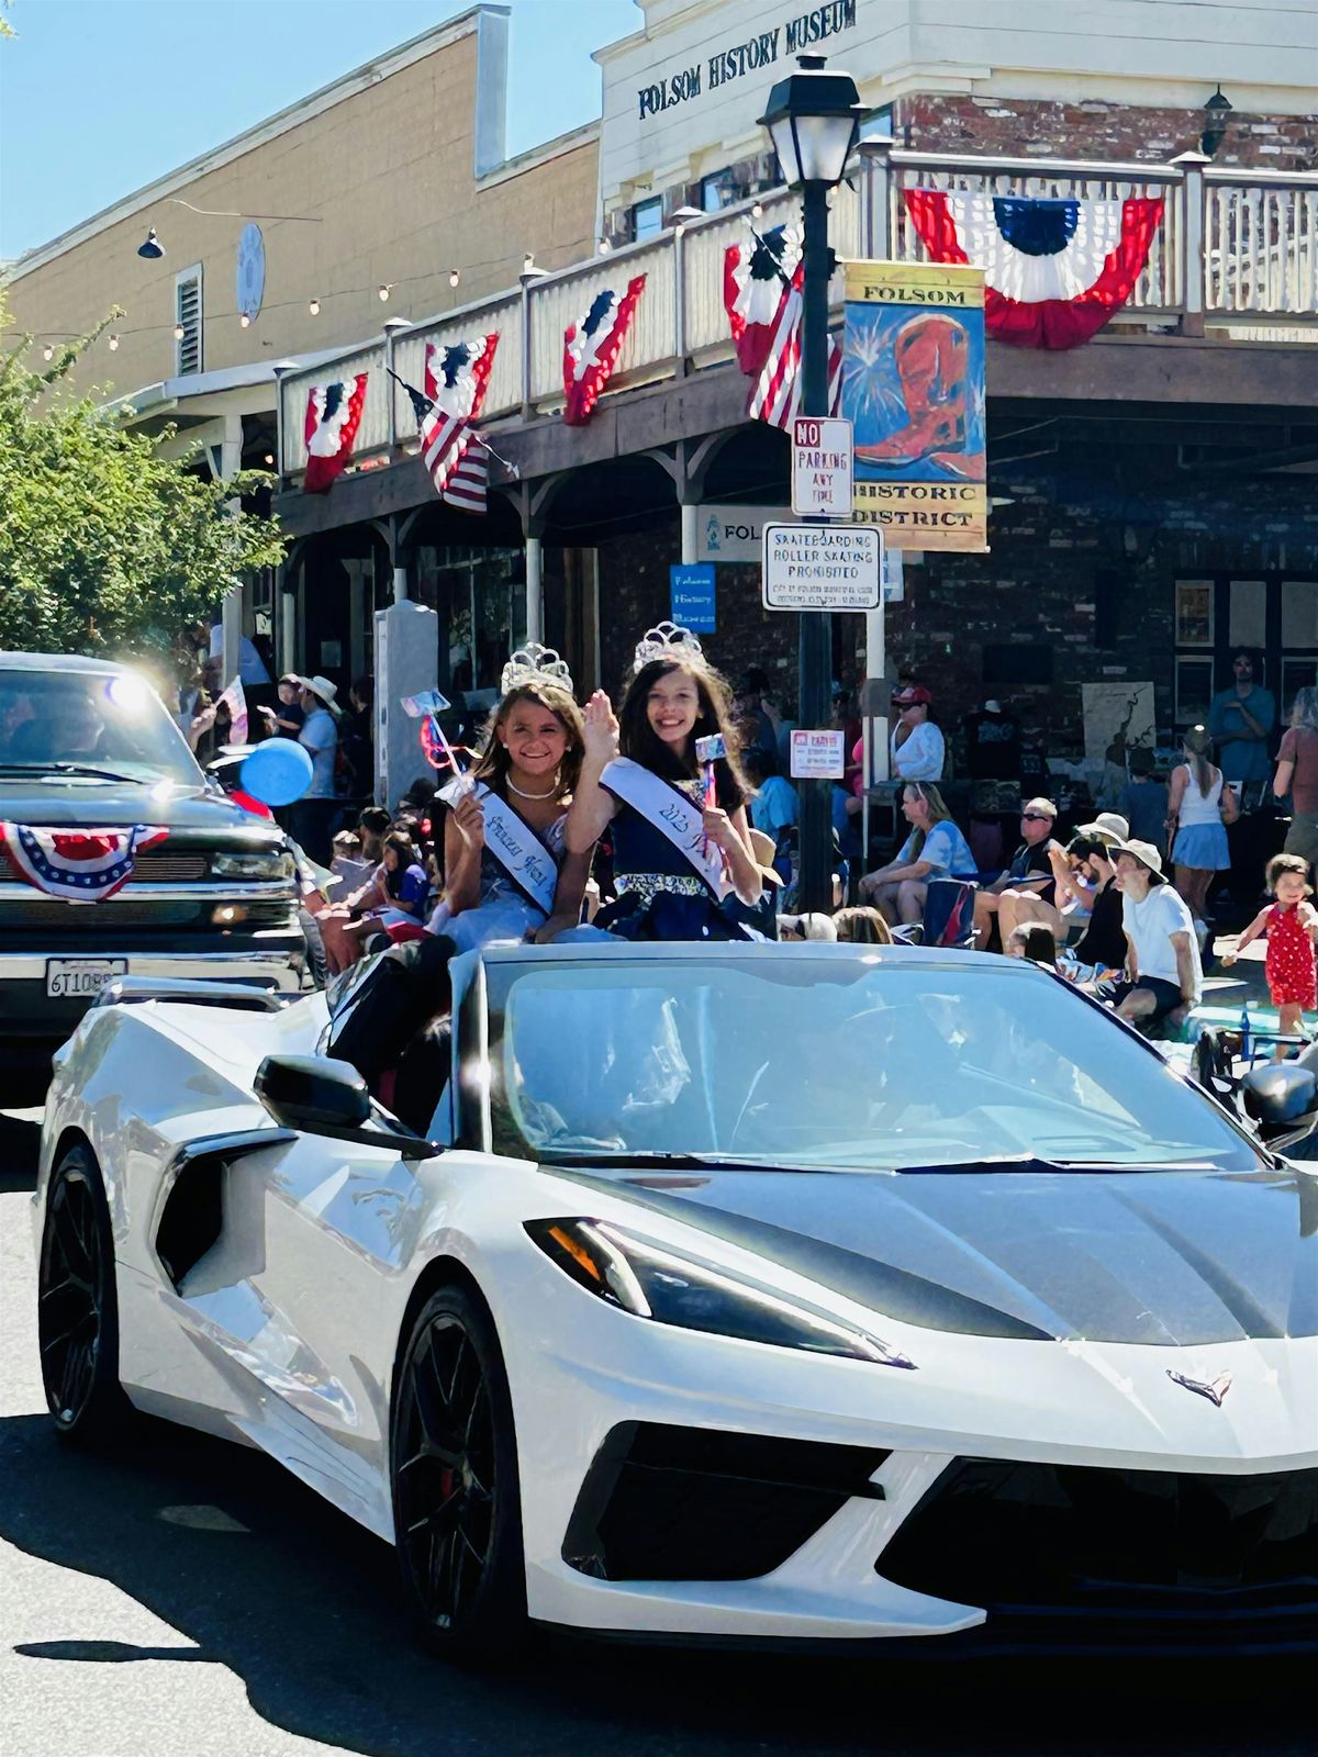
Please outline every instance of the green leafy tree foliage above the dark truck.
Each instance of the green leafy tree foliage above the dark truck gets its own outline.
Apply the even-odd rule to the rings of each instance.
[[[262,471],[207,481],[77,397],[69,372],[105,325],[65,343],[46,371],[32,337],[0,362],[0,647],[149,655],[209,624],[250,568],[283,553],[278,525],[237,510]],[[7,327],[0,290],[0,327]]]

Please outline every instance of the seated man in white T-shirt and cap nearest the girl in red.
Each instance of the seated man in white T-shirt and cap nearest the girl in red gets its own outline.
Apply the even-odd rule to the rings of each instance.
[[[1126,980],[1111,996],[1119,1019],[1156,1024],[1177,1007],[1197,1005],[1204,966],[1190,908],[1167,884],[1151,842],[1116,849],[1116,887],[1126,933]]]

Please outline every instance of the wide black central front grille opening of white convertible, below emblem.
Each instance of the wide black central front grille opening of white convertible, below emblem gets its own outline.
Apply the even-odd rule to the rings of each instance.
[[[875,1562],[1003,1620],[1306,1622],[1318,1641],[1318,1471],[1195,1476],[956,1458]],[[1063,1636],[1065,1639],[1065,1636]]]

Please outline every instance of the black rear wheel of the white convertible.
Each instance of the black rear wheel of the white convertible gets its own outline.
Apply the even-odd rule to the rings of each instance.
[[[37,1342],[60,1434],[105,1442],[132,1406],[119,1388],[114,1239],[100,1170],[70,1147],[51,1177],[37,1276]]]

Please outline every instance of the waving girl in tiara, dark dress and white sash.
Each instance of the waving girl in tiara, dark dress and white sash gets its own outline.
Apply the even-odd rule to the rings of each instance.
[[[724,754],[701,761],[706,738]],[[620,713],[603,691],[585,708],[568,847],[589,856],[613,824],[617,898],[596,926],[629,940],[761,938],[721,910],[731,893],[754,907],[763,887],[747,792],[722,678],[694,634],[661,622],[636,647]]]

